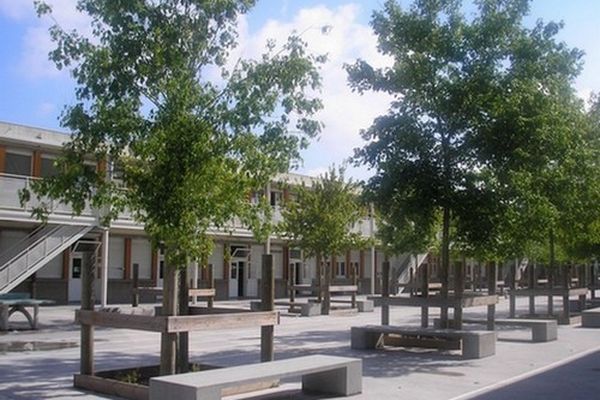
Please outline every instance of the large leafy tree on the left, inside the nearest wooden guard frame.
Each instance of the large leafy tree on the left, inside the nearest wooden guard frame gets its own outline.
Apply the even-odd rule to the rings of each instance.
[[[36,4],[39,15],[51,12]],[[209,228],[226,229],[239,217],[266,239],[267,203],[253,206],[248,195],[287,171],[321,128],[312,117],[321,102],[306,92],[319,88],[324,57],[308,54],[298,36],[281,48],[270,42],[260,61],[227,67],[237,18],[253,5],[79,0],[93,38],[58,24],[50,29],[56,43],[50,58],[70,68],[77,101],[62,115],[72,136],[58,160],[60,173],[33,191],[76,213],[89,202],[103,210],[104,224],[130,210],[166,250],[166,293],[176,293],[177,269],[210,255]],[[207,80],[215,70],[222,84]],[[106,179],[104,168],[87,168],[86,160],[108,162],[123,185]],[[48,211],[36,210],[42,217]],[[176,295],[164,297],[163,310],[176,314]],[[175,369],[170,339],[163,340],[162,374]]]

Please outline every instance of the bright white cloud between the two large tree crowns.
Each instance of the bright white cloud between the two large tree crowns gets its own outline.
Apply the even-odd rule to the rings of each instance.
[[[278,45],[283,44],[293,31],[302,33],[302,39],[311,51],[328,55],[328,63],[321,70],[324,109],[319,113],[326,126],[318,143],[313,143],[303,153],[304,168],[301,171],[308,174],[324,171],[332,163],[341,164],[351,156],[353,149],[363,144],[359,131],[367,128],[376,116],[385,113],[389,105],[387,95],[366,93],[361,96],[347,85],[344,64],[353,63],[357,58],[374,66],[392,62],[377,52],[377,40],[371,28],[358,22],[360,11],[355,4],[304,8],[290,21],[268,20],[251,36],[247,31],[241,31],[239,53],[243,57],[258,57],[269,39],[277,39]],[[321,32],[325,25],[332,27],[327,35]],[[364,177],[366,171],[348,168],[348,174]]]

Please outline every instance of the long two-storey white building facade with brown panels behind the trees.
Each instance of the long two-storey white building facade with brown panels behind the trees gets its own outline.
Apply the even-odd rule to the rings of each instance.
[[[95,210],[87,208],[82,215],[74,216],[69,207],[53,204],[48,225],[41,226],[31,216],[35,204],[22,206],[19,201],[20,189],[54,173],[53,160],[67,140],[68,135],[63,133],[0,122],[0,293],[29,292],[58,304],[77,302],[82,264],[86,260],[84,253],[94,249],[96,257],[107,254],[102,251],[102,229],[98,227]],[[281,218],[280,205],[288,196],[286,188],[310,184],[313,179],[298,174],[278,177],[268,194],[274,218]],[[284,181],[287,185],[277,183]],[[354,229],[371,236],[374,221],[363,220]],[[217,299],[259,297],[264,245],[257,243],[243,226],[235,226],[231,232],[215,230],[212,234],[215,248],[208,264]],[[107,248],[108,261],[104,265],[107,265],[108,303],[131,301],[134,266],[139,271],[140,286],[162,285],[164,255],[152,248],[141,224],[127,215],[119,217],[110,227]],[[299,249],[290,248],[284,240],[271,238],[271,254],[277,297],[287,296],[290,284],[315,280],[316,261],[306,259]],[[350,283],[350,268],[356,268],[360,291],[370,293],[372,287],[379,288],[377,278],[383,260],[380,251],[366,249],[331,255],[323,261],[333,266],[332,278],[339,284]],[[101,264],[98,259],[96,262]],[[391,262],[399,266],[405,260],[400,257]],[[102,293],[101,275],[99,270],[97,293]],[[208,276],[207,269],[201,268],[197,285],[207,286]],[[372,276],[376,278],[374,281]]]

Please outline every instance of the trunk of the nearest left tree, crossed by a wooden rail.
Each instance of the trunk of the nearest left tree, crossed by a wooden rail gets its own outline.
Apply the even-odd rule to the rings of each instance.
[[[165,265],[163,274],[162,315],[177,315],[177,269]],[[177,372],[177,334],[161,333],[160,341],[160,374],[173,375]]]

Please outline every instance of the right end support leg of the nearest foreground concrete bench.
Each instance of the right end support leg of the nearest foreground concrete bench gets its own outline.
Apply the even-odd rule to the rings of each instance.
[[[343,368],[304,375],[302,390],[350,396],[362,392],[362,361]]]

